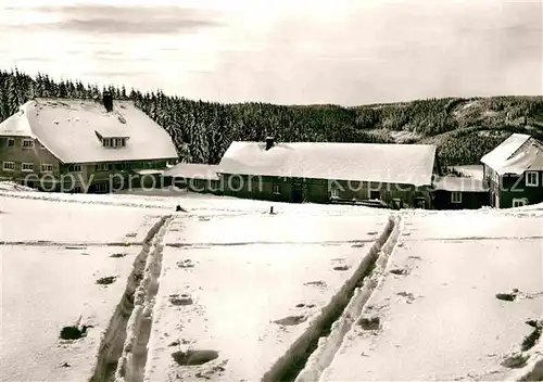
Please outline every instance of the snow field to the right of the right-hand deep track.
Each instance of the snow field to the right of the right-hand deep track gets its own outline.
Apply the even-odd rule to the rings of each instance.
[[[543,317],[542,239],[541,217],[406,218],[364,319],[321,381],[508,379],[528,361],[526,321]],[[515,289],[515,301],[496,298]]]

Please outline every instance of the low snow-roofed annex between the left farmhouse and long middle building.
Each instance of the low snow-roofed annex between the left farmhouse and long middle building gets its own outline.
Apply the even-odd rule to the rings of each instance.
[[[218,166],[179,163],[162,174],[165,186],[192,192],[222,194]]]

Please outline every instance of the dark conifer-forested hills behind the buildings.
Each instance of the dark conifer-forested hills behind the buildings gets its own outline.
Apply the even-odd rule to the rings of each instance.
[[[184,161],[216,164],[233,140],[434,143],[442,165],[478,164],[512,132],[543,139],[543,97],[446,98],[338,105],[220,104],[125,87],[0,71],[0,120],[36,97],[88,99],[110,90],[163,126]]]

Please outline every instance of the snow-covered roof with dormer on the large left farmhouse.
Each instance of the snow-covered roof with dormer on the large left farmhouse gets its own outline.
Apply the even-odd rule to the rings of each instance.
[[[0,124],[3,135],[37,138],[64,163],[144,161],[177,157],[167,131],[131,101],[113,101],[108,113],[93,100],[36,99]],[[126,147],[103,148],[102,137],[129,137]]]

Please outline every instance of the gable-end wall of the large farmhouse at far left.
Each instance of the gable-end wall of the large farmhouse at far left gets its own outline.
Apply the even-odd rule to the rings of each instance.
[[[15,141],[13,147],[8,147],[10,139]],[[34,148],[23,148],[23,140],[33,140]],[[0,137],[0,178],[13,180],[29,187],[38,186],[39,179],[45,177],[43,183],[48,186],[49,178],[58,178],[60,175],[60,161],[47,150],[37,139],[29,137]],[[14,162],[13,171],[3,169],[3,162]],[[33,171],[23,171],[23,163],[33,163]],[[41,171],[41,164],[53,166],[52,173]]]

